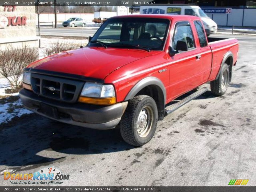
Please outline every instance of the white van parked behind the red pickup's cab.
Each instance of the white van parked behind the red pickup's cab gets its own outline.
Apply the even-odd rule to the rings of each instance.
[[[159,6],[141,6],[140,14],[176,14],[176,15],[194,15],[202,19],[207,36],[217,33],[217,24],[210,19],[199,6],[194,5],[159,5]]]

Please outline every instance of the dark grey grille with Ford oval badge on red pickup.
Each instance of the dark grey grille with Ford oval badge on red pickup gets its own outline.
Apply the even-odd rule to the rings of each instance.
[[[74,103],[77,101],[84,82],[31,73],[34,93],[43,97]]]

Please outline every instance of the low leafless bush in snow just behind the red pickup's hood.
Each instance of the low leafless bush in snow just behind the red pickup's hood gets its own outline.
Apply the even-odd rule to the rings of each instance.
[[[78,48],[80,45],[73,43],[73,42],[62,42],[60,43],[59,41],[51,44],[50,46],[46,47],[45,51],[44,51],[44,55],[50,56],[53,55],[55,53],[59,53],[62,51],[68,51],[71,49],[76,49]]]

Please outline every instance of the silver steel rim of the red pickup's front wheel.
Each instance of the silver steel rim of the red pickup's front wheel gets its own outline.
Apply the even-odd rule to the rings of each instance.
[[[139,137],[147,137],[152,129],[154,119],[153,109],[150,106],[145,106],[139,113],[137,120],[137,132]]]

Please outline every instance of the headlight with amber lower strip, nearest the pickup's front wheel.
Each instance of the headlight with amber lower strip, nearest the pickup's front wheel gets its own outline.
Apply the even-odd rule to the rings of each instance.
[[[116,103],[114,86],[86,82],[78,101],[95,105],[112,105]]]

